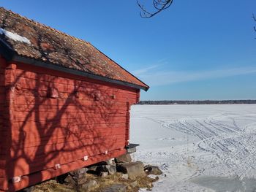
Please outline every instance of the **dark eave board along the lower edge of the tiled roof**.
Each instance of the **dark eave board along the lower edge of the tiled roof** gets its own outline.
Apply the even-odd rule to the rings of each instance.
[[[130,82],[124,82],[124,81],[121,81],[121,80],[113,80],[113,79],[110,79],[108,77],[102,77],[102,76],[99,76],[99,75],[96,75],[96,74],[90,74],[88,72],[81,72],[81,71],[78,71],[78,70],[75,70],[75,69],[69,69],[69,68],[64,67],[64,66],[53,65],[53,64],[50,64],[50,63],[47,63],[47,62],[38,61],[38,60],[33,59],[33,58],[27,58],[27,57],[16,55],[16,54],[13,55],[12,58],[7,58],[7,60],[8,61],[21,62],[21,63],[25,63],[25,64],[31,64],[31,65],[34,65],[34,66],[40,66],[40,67],[43,67],[43,68],[46,68],[46,69],[53,69],[53,70],[56,70],[56,71],[59,71],[59,72],[66,72],[66,73],[69,73],[69,74],[75,74],[75,75],[82,76],[82,77],[88,77],[88,78],[91,78],[91,79],[94,79],[94,80],[101,80],[103,82],[111,82],[111,83],[118,84],[118,85],[124,85],[124,86],[130,87],[130,88],[142,89],[144,91],[148,91],[148,88],[149,88],[149,87],[143,87],[143,86],[140,86],[140,85],[136,85],[136,84],[133,84],[133,83],[130,83]]]

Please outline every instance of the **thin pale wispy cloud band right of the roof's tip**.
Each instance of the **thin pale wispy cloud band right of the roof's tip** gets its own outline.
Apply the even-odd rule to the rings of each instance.
[[[154,69],[154,70],[151,70]],[[157,66],[148,67],[138,70],[136,74],[141,80],[148,85],[170,85],[178,82],[191,82],[199,80],[217,79],[222,77],[232,77],[237,75],[254,74],[256,67],[241,67],[232,69],[215,69],[204,71],[189,71],[189,72],[176,72],[176,71],[157,71]]]

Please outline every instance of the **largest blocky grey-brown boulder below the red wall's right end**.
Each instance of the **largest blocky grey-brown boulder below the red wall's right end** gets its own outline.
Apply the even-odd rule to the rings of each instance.
[[[129,178],[145,177],[144,165],[140,161],[118,164],[117,171],[128,174]]]

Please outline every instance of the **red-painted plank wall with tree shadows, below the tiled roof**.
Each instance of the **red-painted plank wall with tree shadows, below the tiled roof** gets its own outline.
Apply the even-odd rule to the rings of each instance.
[[[1,189],[4,174],[7,180],[23,176],[9,185],[15,191],[125,153],[130,105],[138,102],[139,90],[26,64],[7,66],[0,71],[6,87],[8,78],[10,83],[0,92],[9,100],[3,106],[1,99],[0,109],[7,109],[10,127],[10,142],[0,141],[1,153],[7,150],[0,156]]]

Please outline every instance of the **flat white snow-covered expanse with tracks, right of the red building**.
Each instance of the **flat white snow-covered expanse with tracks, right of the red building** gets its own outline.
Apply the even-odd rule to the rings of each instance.
[[[255,104],[135,105],[130,142],[164,172],[153,191],[256,191]]]

